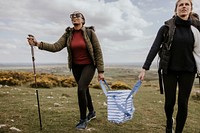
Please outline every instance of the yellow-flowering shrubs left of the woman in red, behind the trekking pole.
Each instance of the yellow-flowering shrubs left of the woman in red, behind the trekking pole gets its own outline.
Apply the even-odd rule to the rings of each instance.
[[[35,88],[34,78],[32,72],[0,71],[1,85],[14,86],[26,83]],[[39,88],[51,88],[56,86],[75,87],[77,85],[72,76],[66,78],[62,75],[40,73],[36,75],[36,78],[37,87]]]

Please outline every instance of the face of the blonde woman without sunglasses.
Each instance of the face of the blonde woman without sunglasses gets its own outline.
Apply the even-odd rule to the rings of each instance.
[[[192,5],[190,0],[179,0],[176,7],[176,14],[180,18],[188,19],[192,11]]]

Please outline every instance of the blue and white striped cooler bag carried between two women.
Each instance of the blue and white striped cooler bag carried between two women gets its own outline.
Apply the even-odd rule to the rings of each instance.
[[[108,121],[120,124],[133,118],[135,107],[132,94],[138,91],[141,83],[140,80],[137,81],[132,90],[110,90],[105,80],[100,81],[101,88],[107,97]]]

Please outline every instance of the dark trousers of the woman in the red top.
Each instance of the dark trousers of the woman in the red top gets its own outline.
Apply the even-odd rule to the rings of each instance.
[[[73,65],[72,72],[78,84],[80,119],[83,120],[86,119],[87,107],[89,112],[94,111],[88,86],[94,77],[95,66],[93,64]]]

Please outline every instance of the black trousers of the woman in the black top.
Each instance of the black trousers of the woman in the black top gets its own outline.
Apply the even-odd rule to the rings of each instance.
[[[178,85],[178,112],[176,115],[176,133],[183,131],[187,113],[188,100],[192,90],[195,73],[192,72],[173,72],[163,74],[165,90],[165,114],[167,117],[167,128],[172,128],[172,115],[176,103],[176,90]]]

